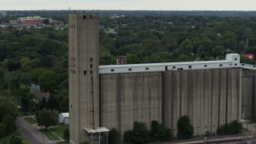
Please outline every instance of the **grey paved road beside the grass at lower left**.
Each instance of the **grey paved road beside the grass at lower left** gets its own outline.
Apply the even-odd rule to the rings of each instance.
[[[18,131],[25,137],[31,144],[51,144],[55,143],[46,138],[38,129],[34,126],[30,125],[29,122],[26,122],[24,118],[18,117],[16,121],[16,126],[18,127]]]

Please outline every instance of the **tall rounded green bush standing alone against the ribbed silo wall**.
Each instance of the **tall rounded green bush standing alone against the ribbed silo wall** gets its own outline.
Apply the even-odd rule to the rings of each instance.
[[[178,138],[179,139],[186,139],[192,138],[194,134],[194,127],[190,124],[190,118],[188,116],[182,116],[178,119]]]

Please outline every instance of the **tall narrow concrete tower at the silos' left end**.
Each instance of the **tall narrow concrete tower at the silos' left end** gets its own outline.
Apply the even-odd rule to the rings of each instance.
[[[99,126],[98,90],[98,14],[69,14],[70,143]]]

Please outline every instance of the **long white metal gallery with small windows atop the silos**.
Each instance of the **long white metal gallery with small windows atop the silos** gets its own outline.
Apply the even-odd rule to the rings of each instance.
[[[226,60],[220,60],[220,61],[166,62],[166,63],[134,64],[134,65],[99,66],[99,74],[153,72],[153,71],[164,71],[164,70],[216,69],[216,68],[228,68],[228,67],[242,67],[242,65],[240,65],[239,54],[226,54]]]

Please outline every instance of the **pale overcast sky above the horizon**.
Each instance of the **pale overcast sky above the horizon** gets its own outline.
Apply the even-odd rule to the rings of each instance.
[[[256,0],[0,0],[0,10],[256,10]]]

